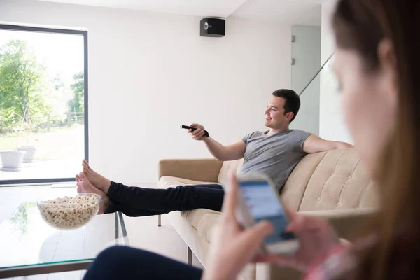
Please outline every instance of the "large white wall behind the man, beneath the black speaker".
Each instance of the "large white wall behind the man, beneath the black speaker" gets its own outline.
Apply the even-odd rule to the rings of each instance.
[[[0,1],[0,21],[89,31],[90,162],[115,181],[210,157],[179,125],[223,144],[264,129],[269,95],[290,87],[289,25],[228,20],[224,38],[202,38],[200,18],[34,0]]]

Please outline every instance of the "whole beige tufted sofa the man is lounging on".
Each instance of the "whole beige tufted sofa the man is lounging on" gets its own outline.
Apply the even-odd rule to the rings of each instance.
[[[243,160],[161,160],[158,188],[225,182],[228,174],[237,172],[242,163]],[[374,184],[353,149],[305,156],[290,174],[280,197],[293,211],[330,219],[339,236],[346,239],[351,239],[351,232],[363,225],[377,205]],[[167,215],[186,241],[189,252],[192,251],[205,267],[221,213],[195,209]],[[248,265],[240,278],[297,279],[298,276],[291,269],[258,264]]]

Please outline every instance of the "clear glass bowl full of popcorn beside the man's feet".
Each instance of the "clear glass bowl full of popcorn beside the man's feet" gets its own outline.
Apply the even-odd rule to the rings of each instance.
[[[77,193],[73,197],[38,200],[37,206],[45,223],[59,230],[73,230],[89,223],[98,214],[101,196]]]

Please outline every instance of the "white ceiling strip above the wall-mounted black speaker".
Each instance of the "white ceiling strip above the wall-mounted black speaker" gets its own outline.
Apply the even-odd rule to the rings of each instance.
[[[298,25],[321,25],[325,0],[40,0],[147,10],[200,17],[244,18]]]

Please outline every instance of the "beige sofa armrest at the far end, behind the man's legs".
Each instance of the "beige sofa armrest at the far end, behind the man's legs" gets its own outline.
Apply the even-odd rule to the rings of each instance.
[[[216,159],[165,159],[158,164],[158,180],[174,176],[203,182],[217,182],[223,162]]]

